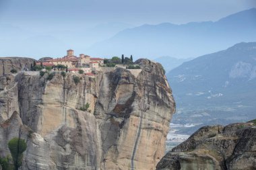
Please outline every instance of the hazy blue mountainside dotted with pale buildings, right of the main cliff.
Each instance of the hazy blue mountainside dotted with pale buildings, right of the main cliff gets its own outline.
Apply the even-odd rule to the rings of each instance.
[[[228,124],[255,118],[256,42],[199,56],[167,75],[176,123]]]

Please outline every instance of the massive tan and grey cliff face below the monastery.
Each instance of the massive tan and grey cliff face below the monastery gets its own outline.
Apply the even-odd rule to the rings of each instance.
[[[1,77],[0,155],[20,136],[23,169],[155,169],[175,105],[162,67],[137,64],[141,72],[104,68],[77,84],[70,73]]]

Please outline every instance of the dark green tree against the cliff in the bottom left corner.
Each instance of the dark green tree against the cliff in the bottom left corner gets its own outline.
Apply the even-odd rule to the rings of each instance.
[[[8,148],[11,152],[11,157],[13,159],[14,169],[18,170],[18,168],[22,165],[23,152],[26,151],[27,144],[22,138],[12,138],[8,142]]]

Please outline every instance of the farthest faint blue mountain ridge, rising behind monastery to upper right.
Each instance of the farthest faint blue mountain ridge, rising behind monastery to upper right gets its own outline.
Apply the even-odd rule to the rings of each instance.
[[[88,48],[88,53],[108,56],[133,54],[136,57],[195,57],[228,48],[237,42],[256,40],[256,9],[234,13],[218,22],[191,22],[175,25],[143,25],[119,32]]]

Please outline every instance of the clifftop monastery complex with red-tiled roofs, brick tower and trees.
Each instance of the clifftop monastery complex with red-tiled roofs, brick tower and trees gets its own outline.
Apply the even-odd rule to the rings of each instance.
[[[62,58],[44,58],[31,65],[30,71],[65,71],[66,73],[79,73],[94,77],[96,71],[102,67],[123,67],[124,69],[140,69],[139,65],[133,65],[133,56],[124,55],[121,58],[92,58],[85,54],[74,55],[73,50],[67,50],[67,55]]]

